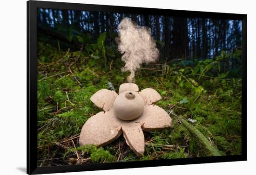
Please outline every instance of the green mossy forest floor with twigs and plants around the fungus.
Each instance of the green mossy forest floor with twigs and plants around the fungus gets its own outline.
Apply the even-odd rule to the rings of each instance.
[[[106,47],[103,56],[96,57],[38,43],[38,166],[211,156],[171,112],[196,120],[189,123],[222,155],[241,154],[241,77],[223,66],[239,51],[222,52],[214,60],[142,65],[136,84],[159,92],[162,100],[157,105],[173,119],[172,129],[144,132],[143,157],[135,155],[122,135],[101,148],[80,147],[82,126],[100,112],[89,98],[108,88],[108,81],[118,91],[129,75],[121,72],[123,63],[117,51],[106,53],[105,49],[110,50]]]

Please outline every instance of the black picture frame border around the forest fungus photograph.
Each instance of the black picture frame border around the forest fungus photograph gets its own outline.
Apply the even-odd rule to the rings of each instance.
[[[125,12],[181,17],[242,20],[242,155],[207,156],[140,162],[92,163],[37,167],[37,8],[54,8],[84,11]],[[27,174],[46,174],[103,169],[126,169],[168,165],[232,162],[247,160],[247,15],[217,12],[154,9],[125,6],[106,6],[48,1],[27,1]]]

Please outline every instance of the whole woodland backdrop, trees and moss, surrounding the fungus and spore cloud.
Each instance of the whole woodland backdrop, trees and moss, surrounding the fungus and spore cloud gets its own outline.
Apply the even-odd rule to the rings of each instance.
[[[38,166],[241,154],[241,21],[60,9],[37,15]],[[78,142],[100,112],[90,97],[118,91],[129,75],[115,42],[125,17],[151,29],[160,59],[142,64],[135,83],[161,94],[157,105],[173,121],[172,129],[143,132],[141,158],[122,136],[101,148]]]

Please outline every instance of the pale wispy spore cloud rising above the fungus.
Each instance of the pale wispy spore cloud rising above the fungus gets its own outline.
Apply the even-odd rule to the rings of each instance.
[[[118,25],[118,51],[121,52],[121,60],[125,63],[122,72],[130,71],[127,81],[134,80],[135,71],[142,63],[155,62],[159,57],[155,40],[151,37],[151,29],[139,26],[130,18],[124,18]]]

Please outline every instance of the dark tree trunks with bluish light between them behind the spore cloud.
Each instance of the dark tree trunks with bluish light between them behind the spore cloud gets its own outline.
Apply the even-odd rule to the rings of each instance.
[[[51,33],[53,30],[69,28],[68,39],[71,41],[80,33],[90,34],[95,41],[102,32],[107,31],[107,44],[115,44],[117,26],[125,17],[151,29],[152,37],[160,49],[160,58],[164,61],[214,58],[221,50],[232,52],[241,49],[242,26],[239,20],[40,9],[38,29],[54,37],[55,33]],[[55,37],[64,41],[67,39],[61,35]]]

